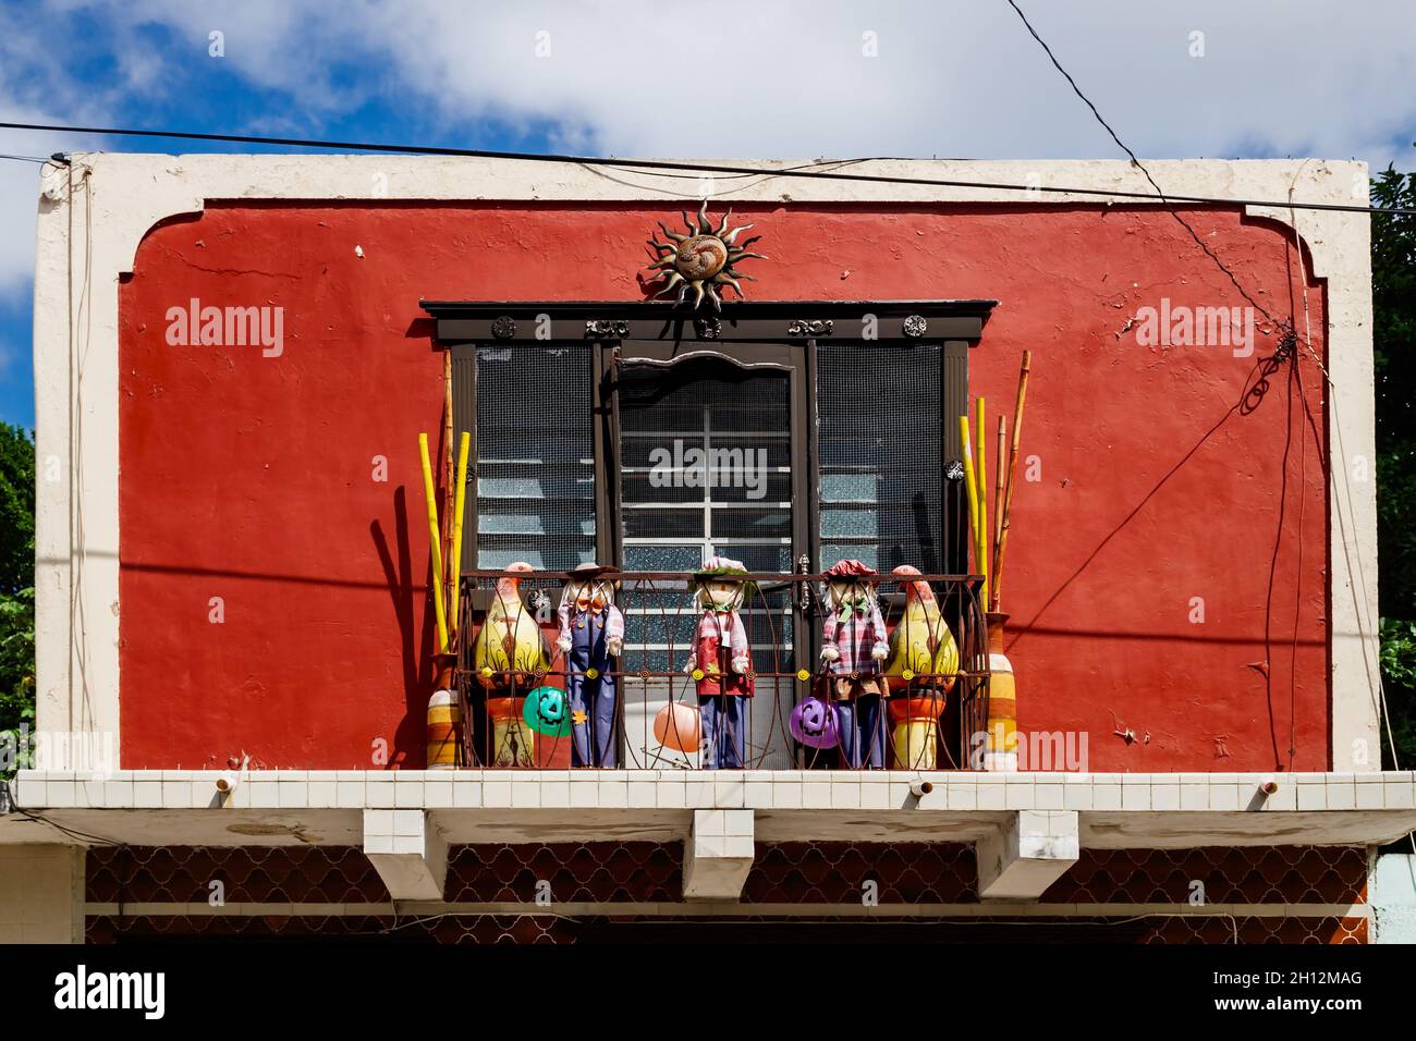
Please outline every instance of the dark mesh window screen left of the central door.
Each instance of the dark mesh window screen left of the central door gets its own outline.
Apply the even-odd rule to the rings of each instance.
[[[477,348],[477,567],[595,558],[590,351]]]

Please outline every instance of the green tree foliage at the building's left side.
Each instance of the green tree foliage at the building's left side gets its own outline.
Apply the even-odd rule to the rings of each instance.
[[[0,422],[0,742],[34,727],[34,440]],[[6,762],[0,755],[0,765]]]

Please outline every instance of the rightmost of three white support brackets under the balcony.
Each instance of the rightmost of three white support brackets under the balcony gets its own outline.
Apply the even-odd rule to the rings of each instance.
[[[1020,810],[978,840],[978,895],[1038,899],[1080,855],[1075,810]]]

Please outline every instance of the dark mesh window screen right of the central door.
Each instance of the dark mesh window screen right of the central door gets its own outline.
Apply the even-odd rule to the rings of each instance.
[[[823,569],[946,569],[942,387],[940,344],[817,348]]]

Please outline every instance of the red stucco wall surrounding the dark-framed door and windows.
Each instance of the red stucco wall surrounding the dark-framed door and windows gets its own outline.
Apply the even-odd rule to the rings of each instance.
[[[416,433],[440,429],[442,360],[418,300],[640,299],[643,241],[675,214],[211,205],[150,232],[120,296],[123,765],[362,769],[378,738],[422,765]],[[1004,605],[1020,729],[1085,731],[1096,770],[1286,768],[1290,744],[1296,769],[1327,768],[1325,448],[1289,370],[1238,408],[1269,323],[1249,358],[1123,331],[1163,296],[1245,303],[1184,228],[1124,207],[739,214],[772,258],[755,299],[998,299],[971,355],[993,416],[1034,351],[1041,480],[1017,493]],[[1264,307],[1301,314],[1291,237],[1185,217]],[[283,307],[283,354],[169,346],[190,297]],[[1323,330],[1318,283],[1310,309]],[[530,415],[561,408],[527,388]]]

